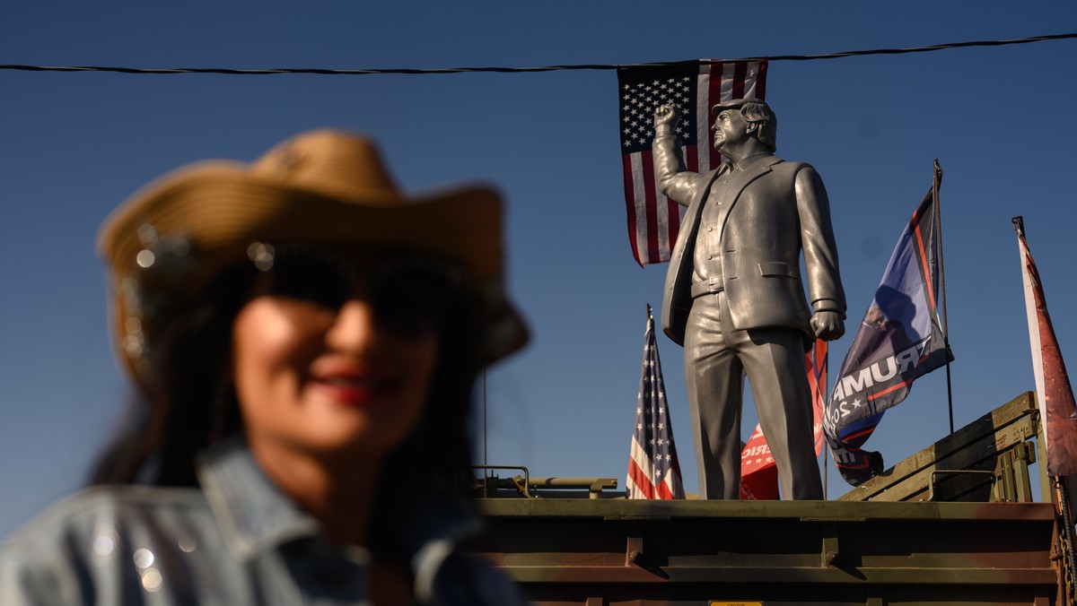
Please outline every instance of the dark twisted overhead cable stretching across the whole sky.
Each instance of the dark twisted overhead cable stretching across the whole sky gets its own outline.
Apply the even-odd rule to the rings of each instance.
[[[569,70],[615,70],[620,68],[635,67],[663,67],[679,65],[700,65],[707,62],[724,61],[753,61],[766,59],[768,61],[811,61],[819,59],[838,59],[842,57],[863,57],[868,55],[904,55],[908,53],[931,53],[935,51],[946,51],[949,48],[967,48],[970,46],[1004,46],[1008,44],[1027,44],[1030,42],[1044,42],[1046,40],[1065,40],[1077,38],[1077,33],[1058,33],[1052,36],[1036,36],[1033,38],[1021,38],[1017,40],[984,40],[978,42],[954,42],[950,44],[935,44],[932,46],[915,46],[912,48],[875,48],[870,51],[845,51],[842,53],[826,53],[822,55],[773,55],[769,57],[741,57],[738,59],[715,59],[711,61],[665,61],[655,64],[631,64],[631,65],[576,65],[576,66],[543,66],[530,68],[433,68],[433,69],[321,69],[321,68],[278,68],[278,69],[227,69],[227,68],[130,68],[130,67],[103,67],[103,66],[25,66],[25,65],[2,65],[3,70],[20,71],[97,71],[135,74],[173,74],[173,73],[219,73],[227,75],[267,75],[277,73],[312,73],[320,75],[369,75],[369,74],[433,74],[433,73],[465,73],[465,72],[543,72],[543,71],[569,71]]]

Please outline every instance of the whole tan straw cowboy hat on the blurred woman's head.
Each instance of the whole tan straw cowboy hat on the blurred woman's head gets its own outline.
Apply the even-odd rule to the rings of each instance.
[[[485,308],[484,361],[494,362],[527,341],[504,292],[501,219],[499,195],[482,186],[405,196],[374,143],[340,130],[298,135],[251,164],[177,169],[101,226],[118,353],[138,378],[155,315],[167,315],[162,304],[197,296],[252,242],[305,242],[417,251],[460,265]]]

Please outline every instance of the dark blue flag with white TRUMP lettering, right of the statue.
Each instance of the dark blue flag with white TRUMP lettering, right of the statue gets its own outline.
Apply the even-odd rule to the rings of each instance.
[[[883,411],[905,399],[912,381],[949,360],[938,276],[933,188],[897,241],[826,404],[823,433],[838,471],[854,487],[882,470],[882,456],[861,447]]]

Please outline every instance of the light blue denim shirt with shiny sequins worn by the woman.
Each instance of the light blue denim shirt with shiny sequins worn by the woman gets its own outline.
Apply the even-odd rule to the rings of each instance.
[[[0,548],[0,604],[370,604],[370,554],[337,548],[262,473],[242,443],[208,453],[201,490],[96,487]],[[523,604],[457,544],[480,529],[460,508],[417,503],[393,521],[418,604]]]

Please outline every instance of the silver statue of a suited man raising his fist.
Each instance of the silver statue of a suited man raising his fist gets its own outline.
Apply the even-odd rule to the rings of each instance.
[[[655,178],[688,207],[666,276],[662,329],[684,346],[704,498],[740,494],[743,377],[752,385],[784,498],[823,499],[805,352],[844,334],[845,295],[829,201],[815,169],[773,155],[777,118],[755,99],[714,105],[727,163],[685,170],[680,114],[655,111]],[[800,277],[803,253],[809,307]]]

